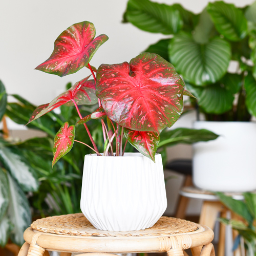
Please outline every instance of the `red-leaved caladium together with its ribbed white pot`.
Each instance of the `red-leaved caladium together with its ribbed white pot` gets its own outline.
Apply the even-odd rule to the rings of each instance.
[[[59,35],[52,55],[36,69],[65,76],[87,67],[93,79],[87,76],[49,104],[38,106],[29,122],[62,104],[74,105],[80,117],[76,125],[84,125],[92,145],[77,141],[75,125],[65,122],[55,136],[52,165],[74,142],[87,145],[95,154],[84,161],[83,214],[98,229],[148,228],[166,209],[161,155],[156,154],[160,133],[177,121],[183,95],[191,94],[174,66],[157,54],[142,53],[130,63],[103,64],[96,70],[89,62],[108,36],[94,37],[90,22],[74,24]],[[82,117],[78,106],[97,102],[98,109]],[[101,119],[103,152],[87,126],[91,119]],[[139,153],[124,153],[128,141]]]

